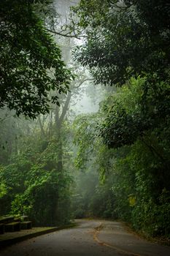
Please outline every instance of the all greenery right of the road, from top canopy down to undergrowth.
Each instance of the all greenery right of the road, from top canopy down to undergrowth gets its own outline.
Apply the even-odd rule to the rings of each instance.
[[[122,86],[77,123],[77,162],[96,163],[112,198],[108,217],[169,236],[169,1],[82,0],[74,14],[86,38],[75,57],[95,83]]]

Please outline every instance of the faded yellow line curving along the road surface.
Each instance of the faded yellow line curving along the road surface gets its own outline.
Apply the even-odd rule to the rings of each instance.
[[[136,254],[134,252],[128,252],[128,251],[125,251],[123,249],[120,249],[119,247],[117,246],[113,246],[111,244],[107,244],[107,243],[104,243],[102,241],[100,241],[97,237],[98,233],[100,233],[100,230],[101,230],[101,227],[102,227],[102,223],[100,222],[100,225],[98,227],[96,227],[94,233],[93,233],[93,239],[94,241],[96,241],[98,244],[102,245],[102,246],[107,246],[109,248],[112,248],[112,249],[115,249],[117,252],[123,254],[123,255],[131,255],[131,256],[142,256],[142,255],[139,255],[139,254]]]

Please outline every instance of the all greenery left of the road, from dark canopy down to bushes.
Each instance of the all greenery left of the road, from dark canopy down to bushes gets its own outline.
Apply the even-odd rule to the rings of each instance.
[[[42,21],[51,2],[0,3],[0,214],[50,226],[72,218],[63,120],[73,78]]]

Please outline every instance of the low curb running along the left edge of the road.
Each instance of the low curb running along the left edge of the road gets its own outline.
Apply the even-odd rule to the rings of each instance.
[[[41,230],[41,231],[37,231],[35,233],[30,233],[30,234],[26,234],[26,235],[23,235],[23,236],[18,236],[18,237],[15,237],[15,238],[5,239],[3,241],[0,241],[0,250],[3,249],[6,246],[16,244],[20,241],[24,241],[24,240],[27,240],[27,239],[30,239],[30,238],[34,238],[36,236],[45,235],[47,233],[53,233],[53,232],[58,231],[58,230],[63,230],[63,229],[66,229],[66,228],[69,228],[69,227],[75,227],[75,226],[76,226],[76,224],[73,223],[73,224],[64,225],[64,226],[61,226],[61,227],[52,227],[52,228],[49,228],[47,230]]]

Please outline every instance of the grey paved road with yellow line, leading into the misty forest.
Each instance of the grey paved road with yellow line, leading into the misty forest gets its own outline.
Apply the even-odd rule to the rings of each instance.
[[[78,220],[77,227],[31,238],[1,256],[170,256],[170,247],[128,233],[120,222]]]

